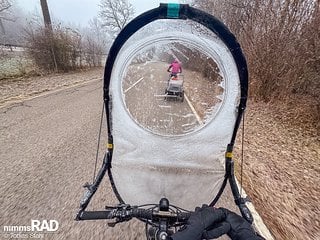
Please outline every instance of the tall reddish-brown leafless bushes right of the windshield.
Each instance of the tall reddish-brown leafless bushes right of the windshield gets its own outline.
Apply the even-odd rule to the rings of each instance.
[[[247,57],[252,98],[300,103],[320,122],[320,2],[195,0],[236,35]],[[301,110],[301,112],[300,112]],[[300,108],[297,116],[304,115]]]

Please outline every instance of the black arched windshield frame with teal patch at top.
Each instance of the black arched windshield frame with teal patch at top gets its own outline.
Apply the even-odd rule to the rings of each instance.
[[[234,125],[233,134],[230,139],[230,143],[228,144],[228,146],[226,146],[227,148],[226,152],[229,155],[228,157],[226,157],[226,174],[225,174],[224,183],[219,193],[217,194],[217,196],[213,198],[213,201],[210,203],[210,205],[214,205],[218,201],[218,199],[220,198],[225,188],[225,185],[228,179],[231,184],[231,189],[237,203],[240,201],[239,199],[241,198],[241,196],[239,195],[238,188],[235,185],[234,174],[233,174],[233,162],[232,162],[232,158],[230,157],[230,153],[232,152],[233,146],[235,144],[236,134],[240,126],[240,122],[241,122],[244,110],[246,108],[247,94],[248,94],[247,62],[237,39],[219,19],[217,19],[216,17],[204,11],[193,8],[188,4],[160,4],[158,8],[149,10],[141,14],[140,16],[133,19],[130,23],[128,23],[122,29],[122,31],[119,33],[119,35],[117,36],[117,38],[115,39],[113,45],[109,50],[109,54],[108,54],[106,65],[105,65],[105,71],[104,71],[103,93],[104,93],[104,104],[106,107],[107,131],[108,131],[108,152],[109,152],[108,175],[109,175],[109,180],[111,182],[113,191],[116,197],[118,198],[118,200],[120,201],[120,203],[124,203],[123,199],[121,198],[114,184],[112,171],[111,171],[113,136],[112,136],[112,114],[111,114],[112,99],[109,92],[109,87],[110,87],[110,80],[111,80],[111,75],[113,71],[113,66],[118,56],[118,53],[120,52],[121,48],[126,43],[126,41],[135,32],[137,32],[139,29],[141,29],[145,25],[160,19],[180,19],[180,20],[189,19],[205,26],[206,28],[214,32],[223,41],[223,43],[230,50],[235,60],[237,70],[239,73],[241,98],[239,101],[238,112],[237,112],[237,117]],[[239,204],[237,203],[237,205]]]

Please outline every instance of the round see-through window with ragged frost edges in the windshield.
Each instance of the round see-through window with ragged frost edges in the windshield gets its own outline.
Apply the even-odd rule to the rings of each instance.
[[[122,82],[124,103],[136,123],[160,135],[186,134],[205,126],[224,96],[217,63],[200,46],[177,36],[141,47]],[[174,59],[182,73],[171,80],[167,69]]]

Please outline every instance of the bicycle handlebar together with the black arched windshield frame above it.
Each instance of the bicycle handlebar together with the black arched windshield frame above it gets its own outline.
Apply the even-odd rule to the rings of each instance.
[[[115,101],[115,95],[110,94],[109,87],[110,82],[112,80],[113,66],[116,62],[117,55],[120,52],[121,47],[125,44],[125,42],[136,31],[157,19],[191,19],[193,21],[196,21],[206,26],[214,33],[216,33],[216,35],[219,38],[221,38],[226,47],[230,50],[230,54],[234,59],[235,66],[239,74],[239,83],[237,83],[236,86],[237,89],[239,89],[240,91],[240,100],[239,105],[236,106],[237,109],[234,109],[234,111],[232,111],[232,114],[236,113],[236,117],[234,125],[232,127],[230,137],[231,139],[229,144],[227,145],[227,149],[225,152],[225,175],[221,183],[221,186],[219,187],[219,190],[213,197],[213,200],[209,203],[209,206],[213,207],[217,203],[218,199],[220,198],[225,189],[227,182],[229,181],[235,203],[239,207],[242,216],[249,222],[252,222],[252,215],[245,205],[247,199],[241,197],[238,186],[236,184],[234,176],[234,163],[232,160],[232,151],[235,144],[236,133],[240,126],[242,116],[246,108],[248,90],[248,72],[246,60],[235,37],[218,19],[200,10],[189,7],[189,5],[187,4],[160,4],[159,8],[150,10],[138,16],[136,19],[132,20],[120,32],[120,34],[114,41],[109,51],[104,75],[104,106],[106,107],[108,149],[105,154],[101,169],[98,172],[94,182],[92,184],[85,185],[86,192],[80,203],[80,210],[76,216],[76,220],[81,221],[115,219],[115,222],[108,224],[109,226],[113,227],[118,223],[129,221],[132,218],[137,218],[146,224],[146,237],[148,240],[164,240],[168,236],[172,235],[174,232],[182,228],[187,223],[187,220],[191,214],[190,211],[184,210],[177,206],[170,205],[169,200],[166,198],[160,199],[158,204],[145,204],[140,206],[131,206],[129,204],[126,204],[120,196],[120,193],[114,181],[114,175],[112,174],[112,157],[114,151],[112,130],[115,127],[115,124],[114,122],[112,122],[113,118],[111,111],[114,111],[115,109],[115,105],[113,104],[114,102],[112,102]],[[239,85],[240,88],[238,88]],[[118,96],[121,97],[122,95],[118,94]],[[118,102],[123,105],[122,100],[119,100]],[[118,106],[122,107],[121,104],[119,104]],[[120,124],[118,127],[123,128],[123,126],[120,126]],[[164,138],[168,139],[166,136]],[[86,211],[86,208],[90,203],[90,200],[97,191],[106,173],[108,173],[114,194],[120,202],[119,205],[107,206],[106,209],[103,211]]]

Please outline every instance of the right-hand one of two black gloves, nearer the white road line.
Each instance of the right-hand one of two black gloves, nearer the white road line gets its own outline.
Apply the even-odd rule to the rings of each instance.
[[[232,240],[263,240],[258,236],[251,224],[241,216],[225,208],[219,208],[225,213],[225,219],[220,223],[211,226],[212,230],[206,231],[204,237],[207,239],[217,238],[223,234],[228,234]]]

